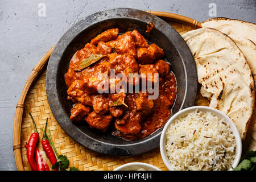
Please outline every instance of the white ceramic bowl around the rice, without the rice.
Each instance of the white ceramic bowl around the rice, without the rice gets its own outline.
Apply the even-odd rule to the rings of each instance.
[[[236,125],[234,124],[234,122],[224,113],[222,113],[221,111],[217,110],[217,109],[213,109],[212,107],[206,107],[206,106],[193,106],[193,107],[188,107],[186,109],[180,110],[179,112],[177,112],[175,115],[173,115],[166,123],[166,125],[163,128],[162,134],[161,134],[161,138],[160,138],[160,152],[161,152],[161,156],[163,159],[164,164],[166,164],[166,167],[170,170],[170,171],[174,171],[174,169],[171,167],[171,164],[168,160],[168,156],[166,154],[166,149],[165,149],[165,143],[166,143],[166,130],[168,129],[170,123],[172,121],[175,121],[176,118],[182,117],[183,115],[186,115],[188,113],[191,113],[192,111],[195,111],[196,109],[198,110],[202,110],[202,111],[210,111],[212,113],[214,113],[217,117],[219,118],[224,118],[225,121],[229,124],[230,128],[233,131],[233,134],[235,136],[236,139],[236,153],[235,153],[235,159],[234,159],[234,163],[232,165],[232,167],[237,167],[240,158],[241,158],[241,153],[242,153],[242,142],[241,142],[241,137],[240,134],[237,130]],[[232,170],[232,168],[230,168],[229,170]]]

